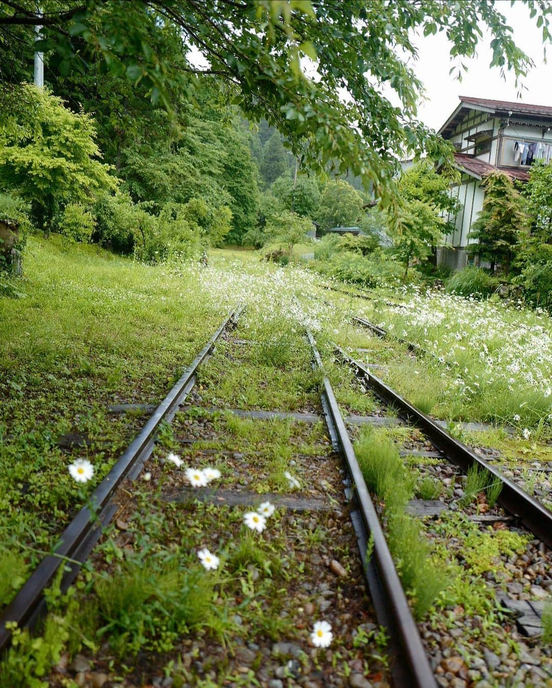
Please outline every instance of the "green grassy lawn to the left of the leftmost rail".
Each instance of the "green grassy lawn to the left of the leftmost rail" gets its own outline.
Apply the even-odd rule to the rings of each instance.
[[[159,402],[222,321],[226,305],[179,272],[30,238],[25,298],[0,298],[0,535],[28,568],[144,422],[109,404]],[[70,431],[96,446],[64,453]],[[74,455],[94,461],[82,491]]]

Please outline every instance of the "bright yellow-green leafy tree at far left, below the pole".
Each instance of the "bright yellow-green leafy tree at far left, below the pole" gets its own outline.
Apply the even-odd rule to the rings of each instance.
[[[0,115],[0,184],[30,202],[36,226],[50,231],[67,204],[89,202],[116,180],[99,160],[89,115],[31,85],[17,93]]]

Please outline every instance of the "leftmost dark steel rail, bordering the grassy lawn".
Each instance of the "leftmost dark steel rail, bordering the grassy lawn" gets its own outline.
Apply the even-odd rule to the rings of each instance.
[[[123,480],[134,480],[142,466],[151,456],[156,433],[162,422],[170,422],[178,407],[195,385],[198,367],[209,357],[215,343],[229,325],[235,325],[242,308],[233,310],[222,325],[209,338],[209,341],[195,356],[176,385],[162,400],[150,416],[138,436],[129,444],[126,451],[96,487],[89,498],[90,506],[83,506],[72,522],[65,528],[51,555],[47,555],[32,572],[6,610],[0,615],[0,652],[11,642],[11,631],[6,623],[14,621],[18,627],[34,625],[45,611],[43,592],[54,581],[61,566],[65,572],[61,579],[61,589],[66,590],[74,581],[78,570],[87,559],[94,545],[100,539],[103,527],[107,526],[116,513],[114,495]]]

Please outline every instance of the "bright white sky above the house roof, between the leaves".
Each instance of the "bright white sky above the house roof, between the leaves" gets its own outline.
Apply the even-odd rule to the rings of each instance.
[[[546,51],[549,63],[544,64],[542,30],[536,27],[536,17],[529,19],[527,6],[516,2],[511,7],[509,0],[497,0],[496,6],[513,27],[516,45],[535,63],[527,77],[521,79],[521,83],[527,87],[522,91],[521,101],[533,105],[552,105],[552,45]],[[418,118],[426,125],[434,129],[443,125],[458,105],[458,96],[519,100],[515,76],[506,72],[504,80],[498,67],[489,68],[492,56],[490,40],[490,36],[485,35],[479,44],[478,56],[463,60],[468,70],[461,82],[454,78],[455,74],[449,75],[453,63],[449,58],[450,46],[445,34],[421,37],[416,41],[419,59],[411,66],[425,85],[428,100],[419,107]]]

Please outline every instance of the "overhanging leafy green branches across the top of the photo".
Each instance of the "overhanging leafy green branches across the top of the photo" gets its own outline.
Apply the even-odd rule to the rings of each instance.
[[[86,71],[125,74],[142,85],[153,103],[170,111],[175,93],[189,101],[211,75],[228,85],[235,103],[251,120],[276,126],[302,164],[371,182],[382,205],[394,195],[394,174],[405,151],[451,160],[452,147],[417,119],[423,85],[410,66],[412,36],[446,34],[454,59],[471,56],[485,29],[491,36],[491,66],[516,78],[531,59],[513,41],[513,28],[492,2],[388,2],[354,0],[0,0],[0,44],[21,33],[30,50],[34,24],[44,25],[40,45],[50,67],[61,74]],[[549,3],[527,0],[531,17],[549,43]],[[344,7],[346,10],[344,10]],[[165,54],[158,46],[176,45]],[[208,67],[195,67],[190,47]],[[8,51],[9,52],[9,51]],[[93,56],[98,57],[94,61]],[[315,61],[317,78],[301,71],[301,56]],[[2,74],[9,69],[0,63]],[[0,60],[3,56],[0,52]],[[183,75],[189,80],[182,88]],[[350,98],[342,99],[346,85]],[[393,92],[399,107],[387,98]]]

